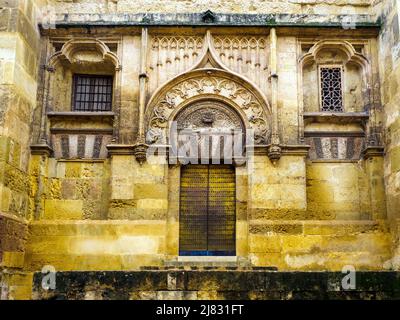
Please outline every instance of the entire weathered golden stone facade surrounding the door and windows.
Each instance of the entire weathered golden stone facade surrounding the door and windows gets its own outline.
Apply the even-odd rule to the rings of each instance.
[[[399,10],[0,2],[0,298],[397,299]],[[112,79],[109,110],[74,109],[77,75]],[[329,86],[340,112],[321,111]],[[236,256],[185,259],[182,166],[146,151],[168,150],[173,120],[218,123],[207,105],[254,130],[252,171],[234,169]],[[40,288],[46,265],[54,292]],[[346,265],[357,292],[329,285]]]

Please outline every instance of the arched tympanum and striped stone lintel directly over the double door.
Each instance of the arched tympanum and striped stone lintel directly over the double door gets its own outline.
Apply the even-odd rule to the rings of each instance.
[[[245,126],[228,105],[199,101],[178,113],[171,125],[170,162],[233,164],[245,158]]]

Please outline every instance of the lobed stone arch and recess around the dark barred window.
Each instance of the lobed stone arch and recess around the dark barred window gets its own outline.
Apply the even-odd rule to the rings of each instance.
[[[102,40],[96,38],[73,38],[66,41],[59,51],[53,53],[47,59],[46,94],[43,97],[44,110],[55,112],[75,111],[75,95],[72,88],[76,75],[112,77],[111,107],[115,113],[112,141],[118,141],[121,109],[121,70],[121,61],[118,55],[111,51],[110,47]],[[44,123],[46,120],[42,121],[42,127],[44,128],[47,126]]]

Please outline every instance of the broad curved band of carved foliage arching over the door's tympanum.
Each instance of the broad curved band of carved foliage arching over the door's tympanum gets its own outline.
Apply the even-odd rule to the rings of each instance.
[[[265,97],[243,78],[211,68],[180,75],[154,93],[146,108],[146,142],[167,144],[168,128],[177,113],[205,100],[221,101],[235,109],[246,129],[254,130],[255,145],[269,144],[271,109]]]

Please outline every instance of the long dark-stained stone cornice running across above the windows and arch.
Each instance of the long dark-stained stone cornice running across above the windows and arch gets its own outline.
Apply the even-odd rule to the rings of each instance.
[[[348,15],[321,14],[226,14],[214,13],[212,20],[204,13],[137,13],[137,14],[58,14],[57,28],[124,27],[124,26],[249,26],[249,27],[318,27],[343,28]],[[381,24],[372,15],[355,14],[356,28],[376,28]],[[40,26],[41,27],[41,26]],[[45,32],[45,29],[41,27]]]

